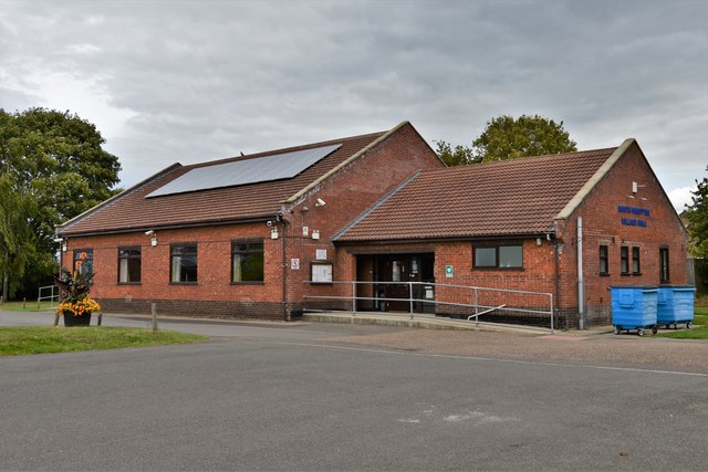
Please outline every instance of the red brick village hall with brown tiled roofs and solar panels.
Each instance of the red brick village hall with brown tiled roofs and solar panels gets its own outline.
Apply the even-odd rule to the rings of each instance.
[[[468,292],[455,285],[475,285],[552,294],[573,326],[579,313],[608,322],[610,285],[687,280],[684,225],[634,139],[448,169],[409,123],[177,164],[58,235],[62,264],[86,253],[94,295],[118,312],[154,302],[160,313],[290,319],[305,297],[353,291],[357,310],[397,311],[413,286],[415,311],[459,314],[446,303]]]

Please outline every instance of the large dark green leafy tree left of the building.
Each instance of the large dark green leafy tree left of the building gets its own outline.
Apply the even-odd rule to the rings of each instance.
[[[31,218],[24,214],[34,235],[34,251],[23,258],[32,277],[49,270],[40,279],[51,283],[54,227],[117,191],[121,165],[104,143],[93,124],[69,112],[0,108],[0,174],[10,175],[17,191],[31,195],[37,204]]]

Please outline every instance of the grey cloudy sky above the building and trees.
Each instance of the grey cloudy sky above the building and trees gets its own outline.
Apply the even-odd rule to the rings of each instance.
[[[635,137],[678,209],[708,165],[708,1],[0,0],[0,108],[94,123],[129,187],[168,165],[498,115]]]

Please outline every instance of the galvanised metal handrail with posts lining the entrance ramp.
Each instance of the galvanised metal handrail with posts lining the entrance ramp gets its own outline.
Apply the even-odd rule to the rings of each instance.
[[[312,281],[303,281],[303,283],[312,283]],[[303,295],[303,300],[305,302],[305,311],[306,311],[306,300],[311,298],[311,300],[346,300],[346,301],[351,301],[352,302],[352,313],[354,315],[356,315],[357,310],[356,310],[356,301],[358,300],[367,300],[367,301],[384,301],[384,302],[391,302],[391,301],[395,301],[395,302],[402,302],[402,301],[407,301],[408,305],[409,305],[409,315],[410,318],[414,317],[414,303],[415,302],[423,302],[423,303],[430,303],[433,305],[446,305],[446,306],[460,306],[460,307],[465,307],[465,308],[473,308],[475,310],[475,314],[468,316],[468,321],[471,321],[471,318],[475,318],[475,323],[477,325],[479,325],[480,321],[479,321],[479,315],[483,315],[490,312],[493,312],[494,310],[501,310],[503,308],[507,312],[518,312],[518,313],[533,313],[533,314],[541,314],[541,315],[549,315],[550,317],[550,325],[551,325],[551,333],[554,332],[554,322],[553,322],[553,294],[552,293],[548,293],[548,292],[530,292],[530,291],[523,291],[523,290],[511,290],[511,289],[493,289],[493,287],[481,287],[481,286],[470,286],[470,285],[457,285],[457,284],[440,284],[440,283],[435,283],[435,282],[417,282],[417,281],[408,281],[408,282],[374,282],[374,281],[332,281],[332,282],[327,282],[327,285],[334,285],[334,284],[345,284],[345,285],[351,285],[352,286],[352,295],[351,296],[337,296],[337,295]],[[408,285],[408,297],[407,298],[388,298],[388,297],[382,297],[382,296],[357,296],[356,295],[356,286],[357,285]],[[469,290],[472,292],[473,294],[473,298],[475,298],[475,303],[459,303],[459,302],[446,302],[446,301],[438,301],[438,300],[429,300],[429,298],[414,298],[413,296],[413,286],[414,285],[425,285],[425,286],[433,286],[433,287],[450,287],[450,289],[464,289],[464,290]],[[479,291],[485,291],[485,292],[499,292],[499,293],[510,293],[510,294],[522,294],[522,295],[535,295],[535,296],[543,296],[543,297],[548,297],[548,303],[549,303],[549,310],[529,310],[529,308],[516,308],[512,306],[508,306],[507,304],[502,304],[502,305],[480,305],[479,304]],[[437,290],[435,292],[436,294],[438,293]],[[482,310],[480,312],[480,308]],[[361,313],[361,312],[360,312]],[[481,322],[483,323],[483,322]]]

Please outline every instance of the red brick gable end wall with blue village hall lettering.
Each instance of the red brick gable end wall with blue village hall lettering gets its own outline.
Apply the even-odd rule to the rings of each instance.
[[[632,192],[633,181],[639,185],[636,195]],[[650,214],[620,212],[620,206],[647,209]],[[563,243],[560,305],[571,311],[577,310],[579,216],[583,220],[584,301],[590,324],[611,323],[611,285],[659,285],[662,245],[669,249],[670,283],[687,283],[685,229],[636,145],[629,147],[571,218],[560,224],[559,237]],[[622,218],[643,220],[646,227],[623,224]],[[610,275],[606,276],[600,275],[601,244],[608,249]],[[641,275],[621,274],[622,245],[639,248]],[[632,249],[628,251],[632,254]]]

